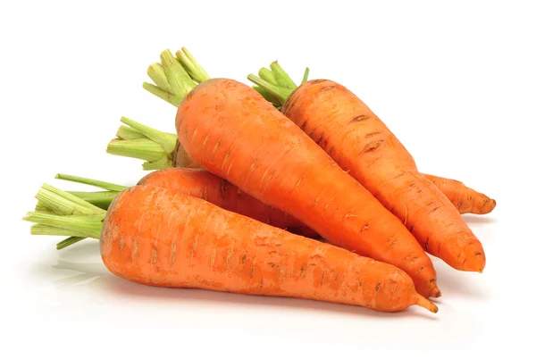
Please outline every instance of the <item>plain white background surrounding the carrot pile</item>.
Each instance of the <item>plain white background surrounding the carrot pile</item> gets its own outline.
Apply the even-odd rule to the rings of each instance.
[[[7,330],[0,356],[438,358],[532,350],[531,2],[133,3],[0,5],[0,323]],[[247,73],[277,59],[297,79],[309,66],[311,79],[346,85],[421,171],[497,200],[493,213],[465,216],[482,240],[485,271],[454,271],[434,259],[440,312],[386,314],[146,288],[106,271],[96,241],[57,252],[58,238],[30,237],[21,218],[43,182],[81,189],[55,173],[124,185],[145,174],[141,162],[105,147],[123,115],[174,130],[172,106],[141,84],[163,49],[180,46],[213,77],[247,82]]]

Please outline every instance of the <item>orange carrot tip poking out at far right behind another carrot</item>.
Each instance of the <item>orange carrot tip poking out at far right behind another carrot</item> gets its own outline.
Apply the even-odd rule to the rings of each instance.
[[[431,174],[424,174],[424,177],[439,188],[461,214],[487,214],[495,208],[495,199],[466,187],[459,180],[445,179]]]

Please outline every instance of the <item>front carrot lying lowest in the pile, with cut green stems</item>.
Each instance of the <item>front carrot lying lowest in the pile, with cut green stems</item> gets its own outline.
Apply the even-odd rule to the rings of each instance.
[[[54,196],[51,195],[54,194]],[[288,296],[382,312],[437,306],[405,272],[345,249],[297,236],[203,199],[138,185],[107,212],[52,186],[38,197],[71,213],[28,213],[24,220],[100,239],[105,267],[147,286]],[[74,197],[74,199],[72,199]]]

